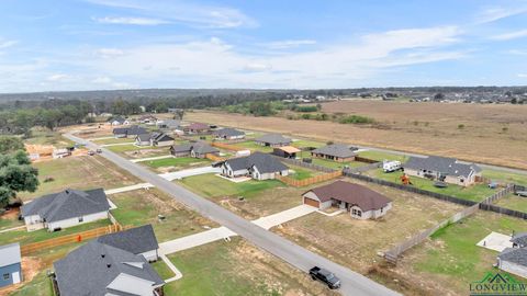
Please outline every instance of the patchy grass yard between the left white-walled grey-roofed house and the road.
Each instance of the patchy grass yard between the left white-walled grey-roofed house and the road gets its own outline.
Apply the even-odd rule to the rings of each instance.
[[[160,242],[217,226],[156,189],[112,194],[110,200],[117,206],[112,215],[121,225],[152,224]],[[160,221],[158,215],[165,219]]]

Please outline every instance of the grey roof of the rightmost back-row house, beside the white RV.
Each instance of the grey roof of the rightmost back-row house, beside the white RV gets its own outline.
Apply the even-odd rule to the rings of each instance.
[[[458,162],[455,158],[429,156],[426,158],[410,157],[408,161],[403,164],[404,168],[414,170],[436,171],[448,175],[466,177],[472,173],[481,172],[478,164],[464,164]]]

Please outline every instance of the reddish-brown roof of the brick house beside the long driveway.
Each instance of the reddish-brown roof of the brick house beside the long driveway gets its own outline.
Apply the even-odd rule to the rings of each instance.
[[[363,212],[382,208],[392,202],[386,196],[366,186],[345,181],[336,181],[332,184],[315,187],[307,192],[313,192],[322,203],[337,200],[351,205],[357,205]]]

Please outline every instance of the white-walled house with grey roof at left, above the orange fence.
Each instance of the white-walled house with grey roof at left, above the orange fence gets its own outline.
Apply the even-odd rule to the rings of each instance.
[[[103,189],[63,192],[41,196],[21,207],[27,230],[49,231],[106,219],[110,204]]]

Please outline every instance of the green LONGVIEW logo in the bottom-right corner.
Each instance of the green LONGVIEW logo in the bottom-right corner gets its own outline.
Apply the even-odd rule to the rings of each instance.
[[[480,282],[470,284],[470,295],[472,296],[527,296],[527,285],[508,274],[489,272]]]

